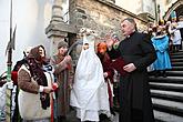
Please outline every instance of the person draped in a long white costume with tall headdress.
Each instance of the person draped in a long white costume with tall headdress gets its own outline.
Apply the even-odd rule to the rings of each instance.
[[[98,122],[101,113],[110,116],[108,85],[102,64],[94,51],[94,35],[84,33],[83,45],[75,69],[70,105],[77,109],[77,116],[82,122]]]

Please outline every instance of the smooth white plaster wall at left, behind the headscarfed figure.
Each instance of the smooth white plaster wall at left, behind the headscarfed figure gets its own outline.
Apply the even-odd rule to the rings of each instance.
[[[17,24],[16,50],[12,68],[23,58],[27,47],[43,44],[49,51],[49,40],[44,33],[51,19],[52,0],[12,0],[12,28]],[[0,74],[7,71],[6,48],[10,39],[10,0],[0,0]],[[49,52],[48,52],[49,53]]]

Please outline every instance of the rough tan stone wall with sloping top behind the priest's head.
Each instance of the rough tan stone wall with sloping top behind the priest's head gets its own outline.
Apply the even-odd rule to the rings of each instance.
[[[109,0],[70,0],[70,23],[78,31],[82,27],[95,30],[100,38],[114,32],[122,39],[120,22],[126,17],[134,18],[140,30],[146,29],[148,21]]]

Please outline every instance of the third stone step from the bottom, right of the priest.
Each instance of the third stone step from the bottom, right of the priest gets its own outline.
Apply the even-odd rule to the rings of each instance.
[[[183,92],[151,90],[151,96],[156,99],[183,102]]]

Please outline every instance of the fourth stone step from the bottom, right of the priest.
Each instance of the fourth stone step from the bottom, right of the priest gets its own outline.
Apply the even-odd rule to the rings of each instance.
[[[177,83],[150,82],[150,87],[151,87],[151,90],[183,92],[183,84],[177,84]]]

